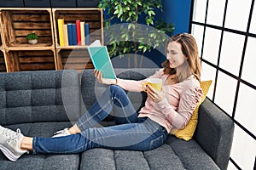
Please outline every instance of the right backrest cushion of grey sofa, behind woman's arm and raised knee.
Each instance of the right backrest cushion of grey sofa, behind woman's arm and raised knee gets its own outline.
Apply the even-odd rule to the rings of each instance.
[[[155,69],[115,69],[115,74],[119,78],[123,79],[133,79],[133,80],[142,80],[146,77],[149,77],[154,74],[155,71],[158,71],[159,68]],[[90,108],[98,97],[104,92],[107,86],[100,84],[96,81],[93,70],[84,70],[81,75],[81,93],[82,99],[84,101],[84,108],[82,111]],[[144,101],[147,95],[142,93],[133,93],[128,92],[128,96],[131,99],[131,103],[134,105],[135,109],[139,111],[144,105]]]

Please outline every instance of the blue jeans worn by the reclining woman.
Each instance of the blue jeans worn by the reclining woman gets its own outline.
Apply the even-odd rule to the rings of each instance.
[[[115,110],[117,125],[96,127]],[[164,144],[165,127],[137,112],[122,88],[109,86],[96,103],[76,123],[82,133],[58,138],[33,138],[33,153],[73,154],[92,148],[113,150],[153,150]]]

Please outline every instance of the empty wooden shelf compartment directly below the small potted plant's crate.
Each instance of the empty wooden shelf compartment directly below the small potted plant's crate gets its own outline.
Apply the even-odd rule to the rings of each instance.
[[[9,51],[9,72],[55,70],[55,51]]]

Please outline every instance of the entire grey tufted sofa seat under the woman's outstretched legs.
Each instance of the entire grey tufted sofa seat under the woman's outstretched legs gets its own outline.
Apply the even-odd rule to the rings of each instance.
[[[70,127],[71,122],[36,122],[9,125],[27,136],[50,137],[55,131]],[[166,144],[155,150],[92,149],[81,155],[23,155],[15,163],[0,153],[0,169],[219,169],[194,139],[184,141],[169,135]],[[80,162],[80,164],[79,164]]]

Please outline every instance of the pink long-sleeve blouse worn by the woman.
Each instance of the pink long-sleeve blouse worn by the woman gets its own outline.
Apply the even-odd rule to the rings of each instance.
[[[201,100],[202,90],[200,82],[194,76],[176,84],[166,84],[167,77],[163,69],[148,77],[162,79],[166,98],[158,103],[147,98],[138,116],[148,116],[154,122],[166,127],[167,132],[170,133],[172,128],[182,129],[188,124],[196,105]],[[143,83],[148,78],[141,81],[118,79],[117,85],[128,91],[141,92]]]

